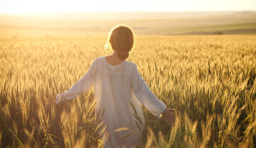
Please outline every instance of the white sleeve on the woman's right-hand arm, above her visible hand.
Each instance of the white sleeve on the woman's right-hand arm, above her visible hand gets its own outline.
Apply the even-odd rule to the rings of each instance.
[[[135,64],[131,74],[131,84],[134,95],[138,100],[158,119],[162,118],[162,112],[166,109],[166,105],[158,100],[153,92],[146,84],[144,78],[140,75],[137,65]]]

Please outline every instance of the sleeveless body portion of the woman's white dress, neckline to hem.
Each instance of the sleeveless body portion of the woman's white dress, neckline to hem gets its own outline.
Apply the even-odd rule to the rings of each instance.
[[[110,133],[109,143],[106,142],[106,147],[134,146],[137,139],[140,138],[144,129],[144,116],[141,109],[141,103],[133,96],[131,75],[135,63],[124,60],[122,63],[112,66],[108,63],[105,57],[96,59],[94,68],[94,91],[95,91],[95,113],[103,112],[102,121],[107,125],[106,131]],[[141,118],[136,120],[132,103],[136,109],[136,113]],[[136,122],[139,124],[139,128]],[[129,130],[114,132],[114,130],[122,127],[128,127],[137,133],[122,139],[122,137],[131,133]],[[100,131],[98,132],[100,133]],[[111,143],[111,144],[110,144]],[[128,145],[130,144],[130,145]],[[140,145],[141,141],[137,141],[136,145]]]

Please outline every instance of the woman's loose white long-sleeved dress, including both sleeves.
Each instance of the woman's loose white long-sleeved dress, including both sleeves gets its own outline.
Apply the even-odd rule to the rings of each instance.
[[[134,145],[141,146],[140,138],[145,126],[142,104],[158,119],[166,109],[166,105],[152,93],[134,62],[124,60],[112,66],[104,56],[96,58],[86,74],[68,91],[58,94],[56,103],[77,98],[92,86],[96,101],[95,116],[99,111],[101,115],[105,109],[101,121],[107,126],[105,132],[107,131],[109,136],[104,148],[118,148],[123,145],[129,148]],[[122,127],[130,130],[114,132]],[[128,134],[130,136],[127,136]]]

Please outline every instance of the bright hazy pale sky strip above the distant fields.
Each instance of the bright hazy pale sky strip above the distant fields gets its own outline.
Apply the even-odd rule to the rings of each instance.
[[[256,0],[0,0],[0,13],[256,10]]]

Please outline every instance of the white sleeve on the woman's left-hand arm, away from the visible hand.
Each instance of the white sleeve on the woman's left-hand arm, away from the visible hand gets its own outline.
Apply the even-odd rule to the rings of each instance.
[[[90,65],[89,70],[82,76],[68,91],[64,91],[56,96],[55,102],[59,104],[63,100],[71,100],[81,96],[83,93],[87,92],[92,88],[94,84],[93,72],[95,61]]]

